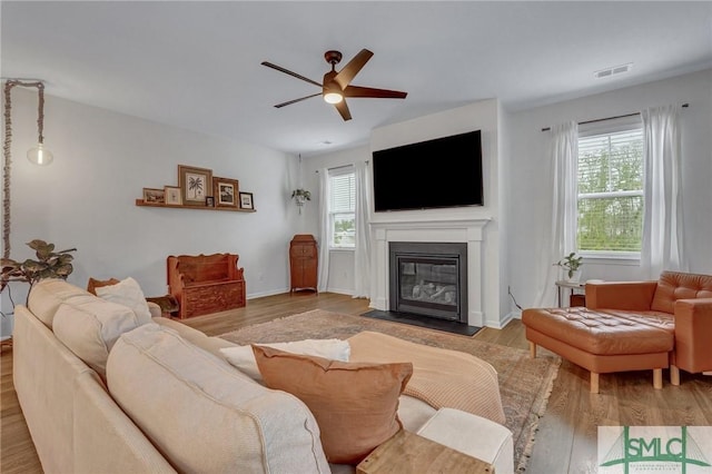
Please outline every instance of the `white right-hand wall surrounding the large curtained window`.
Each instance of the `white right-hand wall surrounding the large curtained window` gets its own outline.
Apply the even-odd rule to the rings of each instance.
[[[553,264],[544,261],[542,253],[552,238],[552,168],[546,154],[548,134],[542,128],[685,102],[690,103],[681,115],[685,245],[691,271],[712,274],[712,70],[708,70],[512,113],[507,130],[511,169],[504,178],[511,189],[505,209],[510,223],[506,247],[512,293],[520,305],[535,303],[543,271]],[[584,261],[583,279],[591,278],[641,279],[643,273],[637,263]],[[546,289],[554,305],[554,288]]]

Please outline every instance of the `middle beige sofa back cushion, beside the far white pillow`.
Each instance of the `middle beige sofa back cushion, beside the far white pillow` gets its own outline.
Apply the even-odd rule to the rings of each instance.
[[[62,303],[53,322],[55,335],[69,349],[106,379],[107,358],[119,336],[151,323],[130,308],[90,295]]]

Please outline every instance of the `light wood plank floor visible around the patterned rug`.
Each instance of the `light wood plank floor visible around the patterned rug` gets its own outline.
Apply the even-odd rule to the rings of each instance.
[[[367,300],[336,294],[277,295],[250,299],[246,308],[187,319],[208,335],[310,309],[362,314]],[[513,320],[504,329],[485,328],[475,338],[527,349],[524,326]],[[544,349],[540,349],[543,352]],[[41,473],[12,385],[12,350],[0,356],[0,472]],[[589,373],[564,361],[548,407],[540,421],[527,468],[533,474],[595,473],[596,428],[603,425],[712,425],[712,377],[682,373],[682,384],[655,391],[652,372],[601,376],[601,393],[589,392]]]

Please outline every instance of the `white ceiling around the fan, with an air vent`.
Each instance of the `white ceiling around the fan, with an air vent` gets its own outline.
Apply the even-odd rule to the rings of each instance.
[[[481,99],[522,110],[712,67],[712,2],[0,6],[3,78],[39,78],[48,95],[306,156]],[[342,51],[344,66],[362,48],[375,56],[353,85],[404,90],[405,100],[349,99],[347,122],[319,97],[273,107],[319,89],[261,61],[320,82],[326,50]],[[594,78],[629,62],[629,73]]]

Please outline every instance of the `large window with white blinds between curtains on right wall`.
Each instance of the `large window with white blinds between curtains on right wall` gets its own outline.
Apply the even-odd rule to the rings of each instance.
[[[582,128],[578,136],[578,250],[637,257],[643,236],[640,117]]]

